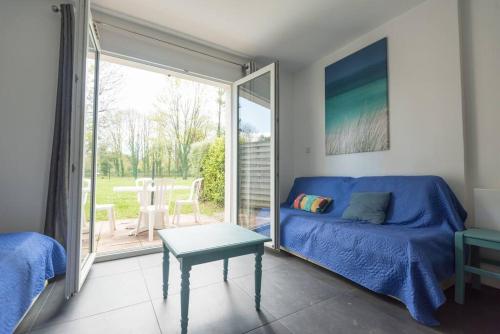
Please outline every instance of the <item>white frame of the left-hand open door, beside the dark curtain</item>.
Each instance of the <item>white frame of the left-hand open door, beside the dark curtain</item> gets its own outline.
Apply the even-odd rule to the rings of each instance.
[[[72,297],[80,291],[90,268],[95,260],[95,241],[92,226],[92,216],[94,215],[95,202],[95,169],[96,169],[96,147],[97,147],[97,103],[98,103],[98,85],[99,85],[99,56],[101,48],[99,39],[93,26],[92,14],[90,12],[90,1],[80,0],[75,5],[75,44],[73,60],[73,117],[72,117],[72,138],[70,146],[70,180],[69,180],[69,221],[67,237],[67,266],[65,280],[66,298]],[[88,37],[93,39],[96,47],[96,67],[94,84],[94,138],[93,138],[93,156],[91,191],[89,200],[91,203],[91,222],[89,226],[89,255],[83,265],[80,261],[82,239],[81,239],[81,215],[82,215],[82,180],[83,180],[83,150],[85,135],[85,82],[86,82],[86,59],[88,52]]]

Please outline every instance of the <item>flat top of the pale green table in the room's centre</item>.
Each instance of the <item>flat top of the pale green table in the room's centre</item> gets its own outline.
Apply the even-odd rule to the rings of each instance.
[[[271,241],[271,238],[267,236],[230,223],[165,229],[159,231],[158,234],[176,257],[193,256],[213,250],[233,249]]]

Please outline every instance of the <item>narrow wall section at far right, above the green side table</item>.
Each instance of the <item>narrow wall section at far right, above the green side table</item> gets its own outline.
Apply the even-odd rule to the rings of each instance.
[[[468,194],[500,188],[500,0],[461,2]],[[500,217],[497,217],[500,229]]]

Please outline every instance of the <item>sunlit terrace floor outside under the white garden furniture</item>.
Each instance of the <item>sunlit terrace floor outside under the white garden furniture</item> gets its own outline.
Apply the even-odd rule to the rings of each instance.
[[[172,219],[172,216],[170,216]],[[224,221],[224,214],[215,214],[212,216],[200,215],[198,224],[195,223],[192,214],[181,214],[180,224],[165,226],[165,228],[183,228],[186,226],[200,225],[200,224],[218,224]],[[172,223],[170,221],[170,223]],[[135,235],[135,228],[137,227],[137,219],[121,219],[116,220],[116,230],[113,233],[109,231],[109,224],[107,221],[99,221],[96,223],[96,251],[98,255],[106,253],[124,252],[132,249],[151,248],[161,246],[161,240],[158,237],[157,230],[154,232],[153,241],[148,240],[148,231],[144,230]],[[131,234],[131,235],[129,235]],[[84,243],[88,242],[88,234],[83,236]]]

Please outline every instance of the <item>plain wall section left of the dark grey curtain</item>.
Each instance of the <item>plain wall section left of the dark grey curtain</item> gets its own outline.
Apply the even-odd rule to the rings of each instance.
[[[59,52],[53,4],[0,3],[0,232],[43,229]]]

